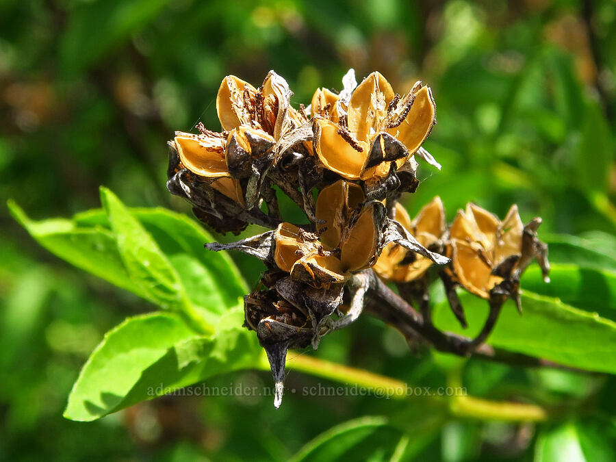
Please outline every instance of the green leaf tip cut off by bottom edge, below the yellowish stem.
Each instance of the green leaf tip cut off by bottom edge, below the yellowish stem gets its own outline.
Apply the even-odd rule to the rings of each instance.
[[[309,441],[290,461],[327,462],[340,460],[345,452],[383,426],[387,426],[387,419],[384,417],[370,416],[348,420],[333,426]]]

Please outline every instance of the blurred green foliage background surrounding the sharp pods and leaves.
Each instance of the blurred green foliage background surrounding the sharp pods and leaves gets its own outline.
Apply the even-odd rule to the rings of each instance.
[[[190,214],[164,187],[166,140],[198,121],[220,128],[224,75],[258,86],[274,69],[298,105],[318,86],[340,89],[350,67],[359,79],[381,71],[399,93],[417,79],[433,88],[438,125],[425,147],[443,169],[422,166],[411,216],[436,194],[448,218],[467,201],[501,217],[515,202],[524,221],[543,217],[540,234],[613,244],[613,0],[3,0],[0,195],[34,218],[69,216],[98,207],[102,184],[127,205]],[[2,460],[283,460],[339,422],[399,411],[389,400],[287,394],[278,411],[268,396],[177,397],[90,424],[64,420],[70,387],[103,333],[152,307],[44,251],[5,205],[0,226]],[[255,283],[260,264],[238,264]],[[413,355],[370,318],[328,337],[318,355],[435,387],[456,367]],[[445,422],[423,428],[419,460],[541,460],[532,443],[558,445],[568,431],[590,441],[596,458],[587,460],[615,460],[613,377],[469,361],[463,378],[478,396],[579,401],[591,415],[555,429]],[[270,381],[244,372],[209,383]],[[316,383],[287,378],[296,389]],[[409,420],[429,413],[417,406]],[[389,460],[398,439],[379,429],[355,457]]]

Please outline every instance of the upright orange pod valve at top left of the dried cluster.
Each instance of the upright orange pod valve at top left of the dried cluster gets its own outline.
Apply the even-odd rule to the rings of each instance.
[[[222,79],[216,95],[216,112],[223,130],[253,125],[253,108],[246,107],[246,101],[251,101],[253,105],[256,94],[255,87],[235,75],[227,75]]]

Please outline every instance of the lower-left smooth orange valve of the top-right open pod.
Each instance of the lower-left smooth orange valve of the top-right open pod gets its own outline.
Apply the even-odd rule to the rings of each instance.
[[[370,144],[344,136],[348,131],[324,118],[315,118],[313,129],[314,152],[325,168],[349,180],[360,179]]]

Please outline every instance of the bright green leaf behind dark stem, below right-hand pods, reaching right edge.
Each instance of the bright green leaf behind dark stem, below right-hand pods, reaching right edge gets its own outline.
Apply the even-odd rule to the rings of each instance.
[[[461,294],[468,329],[461,329],[446,303],[435,307],[439,329],[474,336],[487,317],[487,302]],[[616,374],[616,323],[556,298],[524,292],[519,316],[513,303],[503,307],[488,343],[574,368]]]

